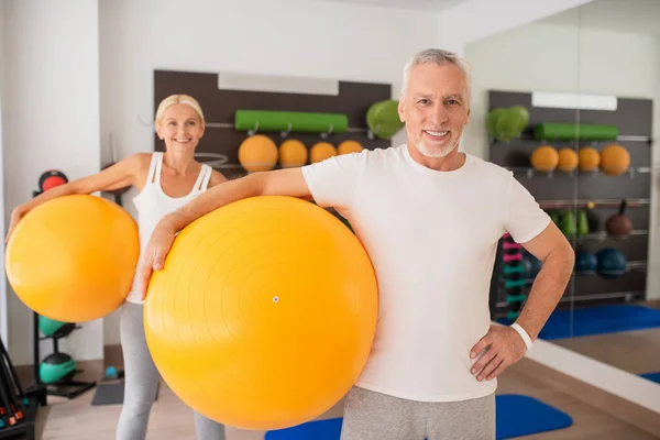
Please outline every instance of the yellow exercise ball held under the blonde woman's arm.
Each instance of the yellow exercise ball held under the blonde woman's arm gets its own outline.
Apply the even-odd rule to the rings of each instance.
[[[84,322],[122,305],[139,256],[138,226],[127,211],[100,197],[73,195],[28,212],[10,237],[4,263],[29,308]]]

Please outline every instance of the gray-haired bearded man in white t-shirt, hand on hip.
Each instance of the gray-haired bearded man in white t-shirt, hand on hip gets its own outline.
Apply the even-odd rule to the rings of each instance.
[[[342,439],[494,439],[495,378],[522,358],[557,306],[573,250],[510,172],[459,152],[470,75],[455,54],[413,56],[398,110],[406,144],[255,173],[199,196],[158,224],[138,276],[146,286],[177,231],[235,200],[285,195],[334,207],[371,256],[381,301]],[[517,321],[497,326],[488,289],[507,232],[543,266]]]

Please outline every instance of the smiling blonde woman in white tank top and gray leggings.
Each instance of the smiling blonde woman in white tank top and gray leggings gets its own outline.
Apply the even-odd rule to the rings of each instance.
[[[9,233],[36,206],[56,197],[92,194],[135,186],[141,250],[152,230],[167,213],[227,178],[195,161],[195,150],[204,135],[205,119],[199,103],[186,95],[164,99],[156,111],[156,132],[165,142],[165,153],[139,153],[95,175],[52,188],[16,207]],[[135,278],[120,310],[120,336],[124,356],[124,403],[117,427],[118,440],[140,440],[146,436],[151,408],[161,376],[148,352],[142,321],[143,298]],[[204,440],[224,439],[224,427],[195,413],[197,436]]]

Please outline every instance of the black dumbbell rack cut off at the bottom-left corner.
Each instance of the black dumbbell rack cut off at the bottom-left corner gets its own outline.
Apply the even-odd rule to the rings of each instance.
[[[46,406],[41,386],[23,389],[9,353],[0,340],[0,439],[35,440],[38,406]]]

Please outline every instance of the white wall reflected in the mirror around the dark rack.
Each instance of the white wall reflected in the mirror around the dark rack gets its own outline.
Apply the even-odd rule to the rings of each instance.
[[[463,150],[487,157],[487,90],[544,90],[651,98],[654,139],[660,136],[660,38],[585,30],[575,25],[528,24],[466,46],[473,68],[471,124]],[[636,133],[622,133],[636,134]],[[653,166],[660,166],[660,143]],[[648,293],[660,298],[660,200],[653,180]]]

